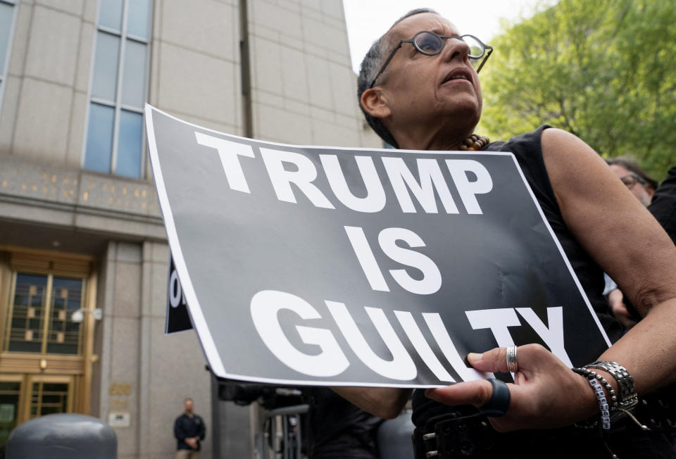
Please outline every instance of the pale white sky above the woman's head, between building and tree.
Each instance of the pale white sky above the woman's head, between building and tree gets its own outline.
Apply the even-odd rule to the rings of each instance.
[[[537,5],[555,0],[343,0],[352,69],[359,64],[371,44],[384,34],[395,20],[413,8],[433,8],[451,20],[461,33],[475,35],[486,44],[501,32],[501,19],[518,23],[532,15]]]

